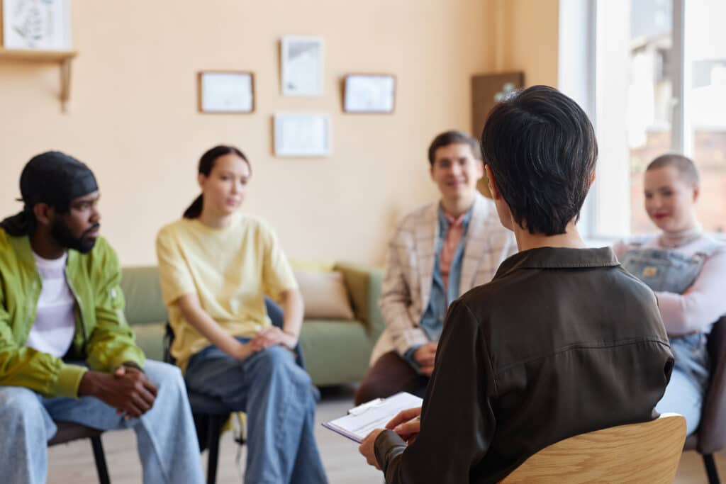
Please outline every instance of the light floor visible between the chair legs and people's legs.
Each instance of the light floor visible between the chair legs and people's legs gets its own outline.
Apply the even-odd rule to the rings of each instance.
[[[383,475],[368,466],[358,454],[358,446],[352,440],[326,430],[320,425],[324,420],[343,415],[351,406],[353,393],[350,388],[328,389],[318,406],[315,437],[322,455],[325,471],[330,484],[383,483]],[[141,466],[136,455],[136,438],[131,430],[106,432],[103,435],[111,483],[141,483]],[[235,462],[238,446],[229,434],[224,435],[219,457],[217,482],[241,483],[245,452],[242,451],[240,464]],[[206,469],[206,453],[203,454]],[[726,478],[726,453],[716,456],[716,464],[722,478]],[[80,440],[68,445],[49,449],[48,483],[51,484],[93,484],[98,482],[96,468],[89,440]],[[706,483],[701,456],[696,452],[683,454],[676,483]]]

